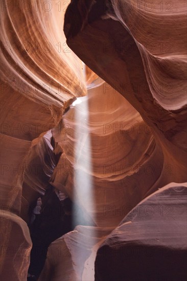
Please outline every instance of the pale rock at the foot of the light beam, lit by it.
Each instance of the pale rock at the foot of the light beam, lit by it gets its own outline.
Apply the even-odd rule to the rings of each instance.
[[[111,230],[80,225],[54,241],[39,280],[93,280],[97,250]]]

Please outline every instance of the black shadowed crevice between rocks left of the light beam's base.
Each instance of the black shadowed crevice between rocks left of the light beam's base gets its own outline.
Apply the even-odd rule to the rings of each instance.
[[[49,185],[45,195],[41,197],[41,202],[40,214],[34,215],[34,221],[33,209],[37,201],[31,206],[30,212],[29,229],[33,247],[28,281],[38,279],[45,263],[48,247],[53,241],[72,231],[78,224],[88,225],[83,213],[82,216],[78,214],[77,224],[73,222],[73,202],[69,198],[60,201],[52,185]]]

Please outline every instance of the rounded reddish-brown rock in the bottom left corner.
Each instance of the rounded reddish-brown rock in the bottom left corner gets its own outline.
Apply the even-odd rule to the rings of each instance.
[[[31,251],[31,238],[25,221],[14,213],[1,211],[1,278],[26,280]]]

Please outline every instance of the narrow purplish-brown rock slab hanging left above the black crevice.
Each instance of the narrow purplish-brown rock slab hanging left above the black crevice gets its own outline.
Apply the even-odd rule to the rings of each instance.
[[[20,214],[26,222],[29,222],[29,206],[36,202],[40,195],[44,195],[57,163],[53,147],[47,137],[52,137],[50,131],[43,137],[35,139],[26,158]]]

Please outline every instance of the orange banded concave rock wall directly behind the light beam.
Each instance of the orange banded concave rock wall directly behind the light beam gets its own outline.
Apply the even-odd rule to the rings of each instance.
[[[88,96],[81,99],[80,104],[71,106],[64,114],[63,125],[53,129],[63,153],[51,183],[76,200],[98,226],[114,227],[139,201],[160,187],[165,178],[163,154],[150,126],[107,83],[88,89]],[[85,116],[87,106],[89,116]],[[89,147],[86,146],[87,134]],[[81,138],[79,152],[78,137]],[[76,153],[83,159],[82,163]],[[91,169],[84,165],[90,153]],[[76,178],[81,171],[84,171],[79,180],[82,193],[79,189],[76,191]],[[88,176],[93,186],[94,210],[86,204],[89,193],[86,196],[84,190],[89,189],[85,183]]]

